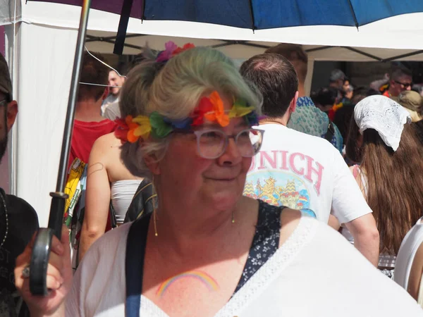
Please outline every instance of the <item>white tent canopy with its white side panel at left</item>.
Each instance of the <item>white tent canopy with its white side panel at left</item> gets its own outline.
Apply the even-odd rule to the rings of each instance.
[[[42,226],[47,225],[49,192],[56,188],[79,17],[77,6],[0,0],[0,25],[6,25],[6,58],[12,70],[13,97],[18,100],[20,111],[9,151],[13,154],[9,166],[15,173],[12,192],[35,207]],[[243,59],[262,53],[266,46],[288,42],[304,44],[310,61],[375,61],[371,56],[384,60],[416,51],[419,54],[400,59],[423,61],[423,51],[419,51],[423,50],[422,20],[423,13],[412,13],[364,25],[359,31],[355,27],[327,25],[253,33],[206,23],[141,23],[130,19],[128,34],[143,36],[128,37],[125,43],[145,46],[148,42],[153,49],[162,49],[164,42],[172,39],[177,44],[219,46],[228,56]],[[110,42],[118,22],[119,15],[92,10],[88,49],[111,53]],[[96,38],[106,38],[108,42],[94,41]],[[130,46],[125,47],[124,54],[140,52]]]

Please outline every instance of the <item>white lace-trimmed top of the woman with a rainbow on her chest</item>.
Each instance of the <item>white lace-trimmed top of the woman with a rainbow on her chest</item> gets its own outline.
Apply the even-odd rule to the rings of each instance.
[[[66,302],[66,316],[125,316],[125,248],[130,224],[87,251]],[[319,259],[319,261],[316,261]],[[303,216],[276,254],[216,316],[423,316],[405,290],[376,270],[335,230]],[[167,317],[141,297],[141,317]]]

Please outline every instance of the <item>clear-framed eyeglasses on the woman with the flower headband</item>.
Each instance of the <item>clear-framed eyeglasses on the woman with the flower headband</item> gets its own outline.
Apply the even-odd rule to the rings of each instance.
[[[175,132],[194,133],[197,137],[198,154],[204,159],[217,159],[228,147],[229,139],[234,139],[240,155],[243,157],[252,157],[258,153],[262,147],[264,130],[245,129],[238,132],[237,135],[226,135],[221,130],[198,130]]]

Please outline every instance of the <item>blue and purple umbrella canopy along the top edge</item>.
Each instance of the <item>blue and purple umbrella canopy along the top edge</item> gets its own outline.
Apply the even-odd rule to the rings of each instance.
[[[80,5],[78,0],[49,0]],[[123,0],[92,0],[92,8],[121,13]],[[362,26],[423,11],[421,0],[134,0],[133,18],[212,23],[266,30],[300,25]]]

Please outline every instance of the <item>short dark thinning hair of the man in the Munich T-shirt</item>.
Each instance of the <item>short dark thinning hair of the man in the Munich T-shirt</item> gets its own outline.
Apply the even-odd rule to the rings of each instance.
[[[253,56],[241,65],[240,73],[263,96],[262,113],[282,117],[298,90],[298,77],[293,64],[279,54]]]

